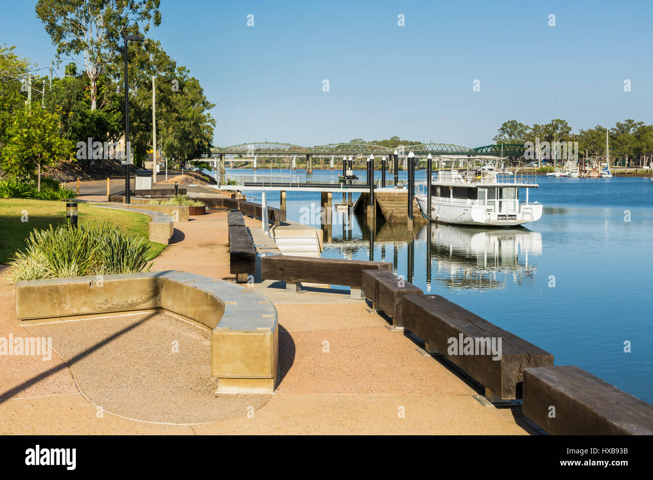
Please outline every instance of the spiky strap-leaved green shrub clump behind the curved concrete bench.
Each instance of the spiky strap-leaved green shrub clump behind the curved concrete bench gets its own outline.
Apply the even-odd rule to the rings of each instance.
[[[150,270],[149,242],[109,223],[33,230],[12,257],[7,280],[38,280]]]

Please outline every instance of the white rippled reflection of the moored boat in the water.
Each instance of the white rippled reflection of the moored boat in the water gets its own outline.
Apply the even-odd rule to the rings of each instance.
[[[477,229],[434,224],[430,230],[430,278],[452,289],[505,287],[509,281],[534,281],[533,255],[542,253],[542,236],[527,229]],[[422,234],[422,232],[420,232]],[[531,255],[529,263],[529,255]],[[433,262],[435,261],[435,264]]]

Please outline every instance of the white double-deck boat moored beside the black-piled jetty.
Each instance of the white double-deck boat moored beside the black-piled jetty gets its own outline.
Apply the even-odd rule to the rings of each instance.
[[[529,189],[539,186],[534,174],[518,174],[515,170],[513,175],[505,176],[486,168],[479,175],[475,170],[459,171],[453,163],[449,169],[443,167],[447,161],[459,159],[469,160],[440,159],[441,169],[430,179],[430,215],[426,192],[415,195],[424,216],[437,223],[494,227],[515,227],[540,219],[542,204],[528,201]],[[520,188],[526,191],[525,202],[518,198]]]

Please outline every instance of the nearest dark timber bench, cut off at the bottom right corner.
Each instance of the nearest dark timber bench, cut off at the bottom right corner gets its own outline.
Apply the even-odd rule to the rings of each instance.
[[[526,368],[523,411],[552,435],[653,435],[653,406],[575,365]]]

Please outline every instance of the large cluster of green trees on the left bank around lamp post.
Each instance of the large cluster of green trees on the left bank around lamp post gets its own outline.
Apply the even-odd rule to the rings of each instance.
[[[0,46],[0,168],[29,176],[39,165],[74,160],[91,168],[107,159],[103,148],[124,138],[123,31],[128,42],[129,130],[133,161],[142,165],[152,146],[152,77],[155,78],[159,151],[177,163],[210,152],[215,120],[199,80],[148,38],[161,24],[159,0],[39,0],[37,16],[57,48],[62,78],[37,70],[16,46]],[[82,59],[76,61],[76,59]],[[31,74],[31,81],[30,81]],[[31,95],[31,103],[28,96]]]

